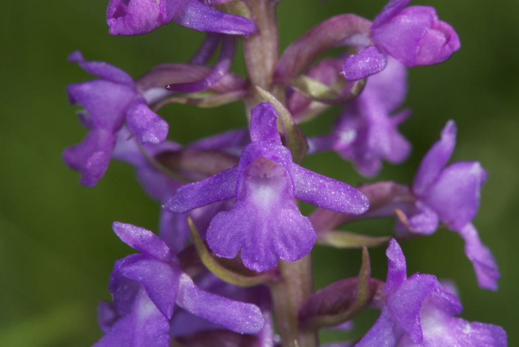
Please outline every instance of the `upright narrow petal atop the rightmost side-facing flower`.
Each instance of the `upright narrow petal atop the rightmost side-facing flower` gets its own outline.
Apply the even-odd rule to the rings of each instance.
[[[434,143],[420,163],[413,182],[413,191],[421,196],[440,175],[456,146],[456,124],[448,121],[442,130],[441,139]]]

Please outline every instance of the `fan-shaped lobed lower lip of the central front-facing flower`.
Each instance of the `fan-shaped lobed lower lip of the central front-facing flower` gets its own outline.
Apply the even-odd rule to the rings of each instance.
[[[231,211],[218,213],[207,230],[211,250],[234,258],[241,249],[243,264],[257,272],[276,266],[280,258],[294,262],[308,254],[316,239],[310,221],[292,200],[272,201],[276,193],[258,191],[252,201],[238,201]]]

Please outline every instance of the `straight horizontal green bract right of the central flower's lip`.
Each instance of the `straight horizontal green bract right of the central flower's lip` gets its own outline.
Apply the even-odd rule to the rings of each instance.
[[[340,230],[330,230],[318,232],[316,243],[334,248],[351,249],[377,247],[386,244],[390,239],[391,237],[389,236],[373,237]]]

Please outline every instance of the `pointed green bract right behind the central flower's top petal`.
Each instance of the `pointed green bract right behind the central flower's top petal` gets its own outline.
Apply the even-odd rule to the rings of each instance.
[[[258,93],[270,104],[274,105],[278,113],[279,124],[285,138],[286,147],[292,153],[295,163],[301,163],[308,151],[308,143],[305,135],[292,118],[290,111],[276,97],[259,86],[256,86]]]

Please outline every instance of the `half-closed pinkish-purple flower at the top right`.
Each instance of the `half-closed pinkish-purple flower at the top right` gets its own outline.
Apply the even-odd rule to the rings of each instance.
[[[372,45],[346,59],[341,74],[356,81],[384,69],[387,56],[407,67],[438,64],[460,48],[458,34],[426,6],[405,6],[411,0],[390,0],[373,21]]]

